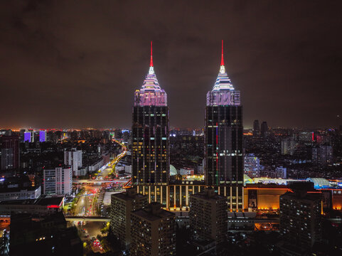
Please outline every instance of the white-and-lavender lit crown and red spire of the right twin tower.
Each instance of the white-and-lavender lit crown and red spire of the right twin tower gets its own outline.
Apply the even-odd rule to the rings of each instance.
[[[235,91],[233,83],[225,72],[223,41],[221,46],[221,65],[213,90],[207,93],[207,106],[240,105],[240,91]]]

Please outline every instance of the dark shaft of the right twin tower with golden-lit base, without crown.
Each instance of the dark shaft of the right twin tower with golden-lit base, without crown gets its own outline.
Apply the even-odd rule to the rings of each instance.
[[[242,210],[242,132],[241,106],[205,108],[205,184],[225,186],[233,210]]]

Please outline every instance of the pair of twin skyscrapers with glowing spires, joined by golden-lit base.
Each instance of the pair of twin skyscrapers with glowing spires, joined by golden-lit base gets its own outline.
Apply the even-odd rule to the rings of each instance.
[[[189,194],[213,187],[228,198],[228,209],[243,210],[242,106],[225,72],[223,42],[220,72],[205,107],[205,183],[169,183],[169,107],[152,58],[144,84],[134,95],[132,185],[168,210],[188,210]]]

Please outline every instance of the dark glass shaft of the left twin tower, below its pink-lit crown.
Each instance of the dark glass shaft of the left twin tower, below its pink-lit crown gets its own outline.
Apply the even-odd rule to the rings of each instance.
[[[132,182],[169,183],[169,108],[133,107]]]

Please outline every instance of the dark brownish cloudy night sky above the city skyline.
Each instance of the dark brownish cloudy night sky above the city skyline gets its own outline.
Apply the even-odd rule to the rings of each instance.
[[[342,124],[341,1],[0,1],[0,127],[130,127],[149,69],[203,127],[220,68],[245,127]]]

